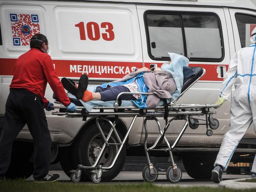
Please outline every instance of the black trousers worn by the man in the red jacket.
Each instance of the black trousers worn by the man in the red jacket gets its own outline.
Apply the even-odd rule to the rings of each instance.
[[[4,127],[0,137],[0,175],[2,176],[6,174],[11,162],[13,141],[25,124],[28,125],[34,142],[33,177],[38,179],[48,174],[52,141],[43,100],[26,89],[11,89],[6,102]]]

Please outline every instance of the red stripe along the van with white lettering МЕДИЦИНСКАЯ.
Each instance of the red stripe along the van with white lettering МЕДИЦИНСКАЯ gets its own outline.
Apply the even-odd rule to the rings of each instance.
[[[0,76],[12,76],[16,59],[0,59]],[[132,72],[133,68],[143,67],[141,62],[115,62],[115,61],[72,61],[53,60],[54,67],[59,77],[80,77],[87,74],[89,78],[122,78]],[[145,63],[150,67],[151,63]],[[161,63],[157,63],[161,66]],[[189,66],[200,66],[206,69],[206,74],[200,79],[202,81],[223,81],[218,78],[217,65],[213,64],[189,64]],[[228,68],[228,65],[225,65]]]

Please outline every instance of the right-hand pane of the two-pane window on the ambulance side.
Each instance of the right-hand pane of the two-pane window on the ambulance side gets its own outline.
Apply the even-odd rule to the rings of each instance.
[[[218,19],[215,15],[182,15],[188,58],[222,57]]]

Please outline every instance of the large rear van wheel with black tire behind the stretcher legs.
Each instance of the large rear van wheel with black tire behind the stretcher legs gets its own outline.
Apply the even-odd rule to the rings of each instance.
[[[110,126],[107,126],[107,123],[104,122],[102,130],[106,135],[109,133]],[[123,137],[121,133],[118,130],[117,132],[122,140]],[[114,133],[112,133],[111,138],[109,139],[109,143],[113,142],[118,142]],[[82,164],[83,166],[92,166],[96,160],[95,153],[98,153],[101,150],[103,143],[104,140],[100,135],[100,131],[98,130],[96,124],[91,125],[88,127],[88,129],[83,129],[72,144],[71,157],[73,164],[76,164],[76,166],[78,164]],[[118,147],[119,146],[117,145],[110,145],[106,147],[106,152],[102,155],[99,163],[104,167],[110,166],[113,162],[115,154],[117,153]],[[102,173],[101,181],[110,181],[115,178],[122,170],[125,157],[126,146],[124,145],[113,168]],[[81,181],[90,181],[91,175],[91,170],[83,170]]]

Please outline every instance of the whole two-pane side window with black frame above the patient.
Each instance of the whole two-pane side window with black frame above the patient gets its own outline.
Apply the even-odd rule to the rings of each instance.
[[[148,54],[166,60],[167,52],[184,55],[190,61],[219,61],[223,41],[219,17],[213,13],[145,13]]]

